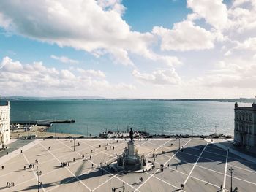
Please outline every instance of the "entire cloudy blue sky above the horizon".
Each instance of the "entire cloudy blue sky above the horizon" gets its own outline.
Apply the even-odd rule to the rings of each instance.
[[[256,96],[255,0],[0,1],[1,96]]]

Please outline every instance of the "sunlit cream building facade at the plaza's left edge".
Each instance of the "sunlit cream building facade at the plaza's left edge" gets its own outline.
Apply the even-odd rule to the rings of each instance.
[[[0,147],[10,141],[10,101],[0,102]]]

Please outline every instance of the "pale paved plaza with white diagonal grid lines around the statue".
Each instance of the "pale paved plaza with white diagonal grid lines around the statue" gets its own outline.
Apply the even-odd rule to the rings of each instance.
[[[179,142],[183,150],[178,150]],[[37,169],[42,171],[40,191],[230,191],[230,167],[234,169],[233,188],[255,191],[256,162],[209,141],[141,139],[135,143],[140,154],[154,161],[150,172],[116,173],[108,168],[127,147],[124,139],[76,139],[75,151],[73,139],[37,139],[2,157],[5,162],[0,158],[0,191],[37,191]],[[69,166],[62,167],[66,162]],[[15,186],[9,188],[7,182]]]

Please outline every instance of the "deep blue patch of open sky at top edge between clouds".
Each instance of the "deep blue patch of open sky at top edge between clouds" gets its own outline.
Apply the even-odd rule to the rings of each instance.
[[[171,0],[126,0],[123,1],[124,7],[127,7],[124,13],[124,20],[135,31],[151,31],[154,26],[163,26],[170,28],[173,23],[186,18],[191,10],[186,8],[187,1]]]

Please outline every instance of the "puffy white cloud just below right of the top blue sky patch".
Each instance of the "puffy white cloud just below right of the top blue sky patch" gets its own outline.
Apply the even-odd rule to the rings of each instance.
[[[162,50],[205,50],[214,47],[211,32],[195,26],[195,23],[189,20],[174,24],[171,30],[155,26],[153,33],[161,37]]]

